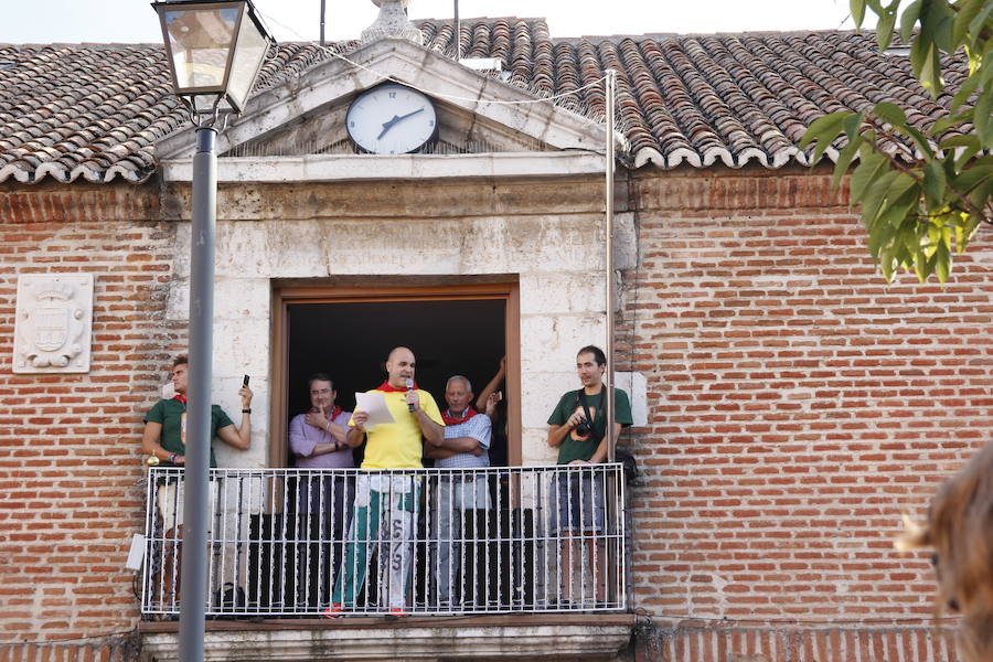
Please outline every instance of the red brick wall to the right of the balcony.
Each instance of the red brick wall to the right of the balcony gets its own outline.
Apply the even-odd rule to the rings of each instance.
[[[887,287],[828,175],[681,171],[631,188],[641,255],[619,369],[648,376],[650,403],[636,606],[927,626],[927,556],[891,540],[993,438],[993,232],[946,287]]]

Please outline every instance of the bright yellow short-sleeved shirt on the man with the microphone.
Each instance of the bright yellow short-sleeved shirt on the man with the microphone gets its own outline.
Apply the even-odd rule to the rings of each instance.
[[[365,458],[362,460],[363,469],[420,469],[420,457],[424,446],[420,442],[420,425],[417,416],[407,409],[407,401],[403,391],[378,391],[373,388],[366,393],[382,393],[386,399],[386,407],[393,415],[395,423],[381,423],[366,429]],[[435,398],[427,391],[416,391],[420,397],[420,408],[428,418],[440,426],[441,412]],[[353,420],[349,420],[349,427],[355,427]]]

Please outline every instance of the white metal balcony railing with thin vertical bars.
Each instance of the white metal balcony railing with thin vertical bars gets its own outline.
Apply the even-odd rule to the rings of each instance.
[[[178,615],[182,470],[148,476],[141,610]],[[212,469],[207,615],[626,607],[620,465]]]

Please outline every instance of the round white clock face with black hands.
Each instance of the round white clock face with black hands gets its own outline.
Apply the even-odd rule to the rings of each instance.
[[[387,83],[362,93],[345,117],[349,137],[376,154],[417,151],[437,136],[431,100],[409,87]]]

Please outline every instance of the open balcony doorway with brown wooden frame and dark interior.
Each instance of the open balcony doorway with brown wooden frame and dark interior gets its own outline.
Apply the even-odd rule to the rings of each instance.
[[[409,346],[417,360],[418,386],[445,408],[445,384],[461,374],[482,392],[508,355],[501,386],[508,425],[494,428],[490,461],[520,463],[517,380],[519,320],[516,284],[382,289],[286,288],[276,291],[280,311],[274,320],[273,426],[270,462],[292,466],[286,425],[309,408],[307,377],[327,372],[338,404],[351,410],[356,391],[378,386],[391,349]],[[509,385],[511,387],[509,388]]]

